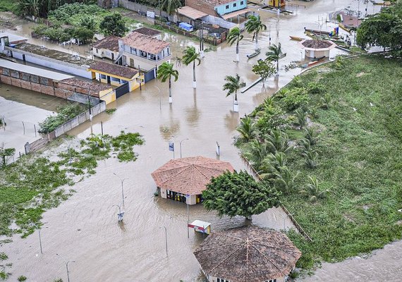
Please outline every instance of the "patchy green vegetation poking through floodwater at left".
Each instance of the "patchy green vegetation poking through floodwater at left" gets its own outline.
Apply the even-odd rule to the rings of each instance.
[[[43,154],[26,155],[0,169],[0,235],[21,233],[25,237],[40,226],[42,214],[57,207],[73,190],[62,188],[73,185],[76,176],[94,174],[97,161],[117,157],[119,161],[135,161],[133,146],[142,145],[138,133],[92,135],[82,140],[77,148],[69,147],[59,159],[49,161]],[[81,178],[82,179],[82,178]],[[10,228],[11,223],[18,228]]]

